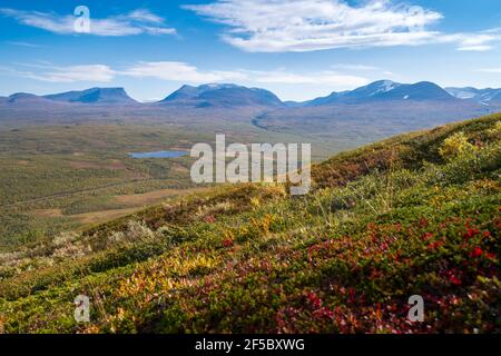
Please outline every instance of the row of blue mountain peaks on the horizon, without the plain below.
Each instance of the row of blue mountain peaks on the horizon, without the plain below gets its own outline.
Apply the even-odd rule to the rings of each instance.
[[[501,105],[501,89],[441,88],[430,82],[399,83],[391,80],[380,80],[354,90],[332,92],[326,97],[296,102],[282,101],[273,92],[261,88],[247,88],[232,83],[209,83],[198,87],[183,86],[165,99],[153,105],[176,107],[317,107],[332,105],[358,105],[376,102],[405,102],[405,101],[440,101],[452,102],[454,100],[468,100],[482,106]],[[7,98],[0,98],[3,105],[43,105],[43,103],[84,103],[84,105],[110,105],[110,106],[141,106],[130,98],[124,88],[90,88],[80,91],[67,91],[61,93],[36,96],[18,92]]]

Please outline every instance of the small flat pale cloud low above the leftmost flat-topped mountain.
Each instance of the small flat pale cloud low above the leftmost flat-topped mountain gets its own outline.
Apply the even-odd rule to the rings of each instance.
[[[108,82],[115,77],[115,71],[104,65],[56,67],[45,65],[24,65],[36,70],[14,70],[20,77],[49,82]]]

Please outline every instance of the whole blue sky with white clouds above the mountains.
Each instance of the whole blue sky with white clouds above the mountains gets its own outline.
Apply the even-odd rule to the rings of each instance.
[[[77,6],[89,33],[75,31]],[[379,79],[501,87],[499,0],[0,3],[0,96],[235,82],[305,100]]]

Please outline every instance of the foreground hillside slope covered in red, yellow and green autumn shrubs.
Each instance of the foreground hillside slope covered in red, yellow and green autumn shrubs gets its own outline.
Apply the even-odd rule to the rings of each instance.
[[[500,333],[500,174],[495,115],[333,157],[305,197],[220,187],[63,234],[0,256],[0,329]]]

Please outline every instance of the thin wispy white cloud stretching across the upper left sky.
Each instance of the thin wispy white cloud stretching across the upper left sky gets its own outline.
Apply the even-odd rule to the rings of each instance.
[[[0,14],[16,19],[18,22],[40,28],[53,33],[75,33],[75,17],[60,16],[40,11],[22,11],[0,8]],[[106,19],[92,18],[90,13],[90,34],[132,36],[132,34],[175,34],[174,28],[164,24],[164,19],[148,10],[139,9],[127,14]]]

